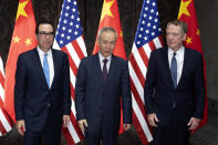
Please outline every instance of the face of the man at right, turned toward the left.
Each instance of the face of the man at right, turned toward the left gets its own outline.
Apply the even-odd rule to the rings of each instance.
[[[169,24],[166,29],[167,45],[177,51],[180,49],[183,41],[186,40],[186,33],[183,32],[179,25]]]

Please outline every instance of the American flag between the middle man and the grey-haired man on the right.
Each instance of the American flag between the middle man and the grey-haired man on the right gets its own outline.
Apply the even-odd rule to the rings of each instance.
[[[156,0],[144,0],[141,18],[129,56],[131,91],[133,101],[133,123],[143,143],[153,141],[147,124],[144,84],[150,52],[164,45]]]

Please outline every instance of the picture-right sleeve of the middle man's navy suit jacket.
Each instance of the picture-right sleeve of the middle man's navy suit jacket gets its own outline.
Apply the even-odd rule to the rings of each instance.
[[[128,63],[125,62],[124,74],[122,80],[122,106],[123,106],[123,123],[132,124],[132,96],[131,96],[131,83]]]

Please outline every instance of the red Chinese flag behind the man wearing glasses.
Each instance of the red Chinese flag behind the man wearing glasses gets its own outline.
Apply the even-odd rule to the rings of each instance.
[[[31,0],[20,0],[15,17],[15,24],[11,45],[6,64],[6,82],[4,82],[4,107],[11,118],[15,122],[13,90],[14,75],[17,70],[18,55],[37,46],[35,40],[35,19],[32,10]]]

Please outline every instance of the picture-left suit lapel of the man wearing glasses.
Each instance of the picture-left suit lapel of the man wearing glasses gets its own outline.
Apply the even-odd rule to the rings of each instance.
[[[34,49],[34,58],[35,58],[35,68],[37,68],[35,70],[38,71],[39,77],[44,82],[45,87],[48,87],[46,80],[44,76],[44,72],[42,69],[42,64],[41,64],[39,52],[38,52],[37,48]]]

